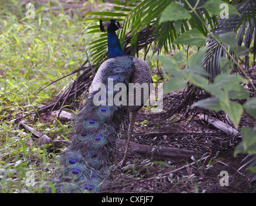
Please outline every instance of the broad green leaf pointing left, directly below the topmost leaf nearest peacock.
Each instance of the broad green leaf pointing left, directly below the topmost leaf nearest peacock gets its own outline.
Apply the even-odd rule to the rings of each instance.
[[[175,39],[175,44],[186,44],[189,46],[204,46],[206,37],[197,29],[189,30]]]

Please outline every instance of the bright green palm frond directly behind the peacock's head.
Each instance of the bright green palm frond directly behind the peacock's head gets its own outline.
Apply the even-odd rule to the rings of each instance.
[[[116,12],[85,13],[85,15],[89,15],[89,17],[85,19],[85,22],[94,21],[94,24],[96,24],[89,26],[85,31],[87,33],[99,32],[99,19],[103,21],[117,19],[123,26],[123,30],[117,32],[123,50],[126,54],[136,55],[140,49],[147,48],[147,45],[152,43],[152,37],[155,37],[158,30],[161,28],[161,26],[158,25],[161,12],[171,2],[172,0],[113,1],[113,3],[116,4],[116,6],[114,6]],[[97,15],[97,17],[91,17],[92,15]],[[162,28],[163,27],[164,25],[162,25]],[[102,62],[105,60],[105,54],[107,53],[106,35],[105,33],[100,35],[100,38],[104,38],[104,41],[97,40],[89,44],[88,52],[90,53],[92,64],[97,64],[98,61]],[[160,40],[159,37],[162,37],[162,35],[158,35],[157,40]],[[159,42],[165,44],[165,42]]]

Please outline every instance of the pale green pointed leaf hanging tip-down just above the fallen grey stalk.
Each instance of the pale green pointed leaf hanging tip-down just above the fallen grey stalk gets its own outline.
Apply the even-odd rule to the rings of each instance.
[[[237,102],[231,102],[220,99],[220,106],[224,109],[225,113],[228,115],[231,122],[233,122],[235,128],[239,126],[241,115],[244,111],[242,106]]]

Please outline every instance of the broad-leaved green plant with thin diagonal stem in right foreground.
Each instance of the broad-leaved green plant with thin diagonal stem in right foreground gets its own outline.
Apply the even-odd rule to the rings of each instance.
[[[186,3],[187,5],[189,5],[187,1]],[[208,3],[202,5],[202,7],[206,8],[209,14],[215,15],[217,13],[215,11],[215,8],[219,8],[218,4],[222,3],[222,1],[215,1],[215,6],[213,7],[208,6],[209,3],[211,3],[211,1],[208,1]],[[191,12],[196,13],[197,10],[197,7],[193,7],[191,5],[189,5],[189,8],[191,10],[187,10],[186,8],[180,6],[177,6],[176,10],[179,10],[179,8],[180,12],[184,14],[179,16],[180,19],[186,19],[187,14],[190,14]],[[186,10],[186,12],[184,12],[184,10]],[[237,14],[237,12],[235,12],[235,8],[232,8],[231,10],[235,14]],[[175,20],[174,17],[170,15],[169,19],[168,17],[164,16],[164,20],[162,21],[173,20]],[[206,45],[206,48],[199,50],[193,56],[189,57],[189,59],[187,60],[187,68],[185,69],[180,69],[178,67],[178,62],[180,61],[180,59],[178,59],[177,57],[169,59],[167,57],[160,56],[158,57],[158,59],[163,64],[165,64],[164,70],[172,76],[165,85],[165,91],[185,88],[187,82],[190,82],[198,88],[202,88],[205,91],[211,93],[211,95],[213,95],[213,97],[206,98],[204,100],[201,100],[200,102],[193,104],[194,107],[197,106],[205,109],[211,109],[216,112],[224,110],[224,112],[228,115],[229,119],[231,120],[231,122],[233,122],[233,125],[236,128],[239,127],[239,122],[242,115],[248,117],[254,127],[241,128],[242,142],[237,146],[237,149],[235,149],[235,154],[255,154],[256,98],[250,98],[250,93],[255,94],[256,88],[246,74],[246,71],[244,71],[241,68],[239,62],[237,62],[237,59],[239,59],[239,57],[248,55],[248,48],[238,45],[237,41],[235,40],[236,34],[234,32],[229,31],[220,33],[219,35],[213,35],[211,30],[204,23],[204,19],[200,19],[200,21],[202,21],[202,24],[208,30],[210,34],[209,38],[214,39],[214,41],[217,42],[217,44],[219,44],[219,46],[226,51],[230,60],[225,57],[220,57],[220,67],[222,68],[222,73],[215,77],[214,83],[209,84],[209,73],[207,73],[206,70],[204,70],[201,66],[204,57],[206,56],[206,50],[209,46],[208,44]],[[181,44],[190,44],[187,41],[187,33],[191,39],[191,42],[193,42],[194,39],[196,40],[195,42],[193,42],[195,43],[195,46],[202,46],[201,42],[204,42],[206,40],[205,37],[200,35],[200,33],[196,31],[193,31],[191,33],[189,31],[182,34],[178,39],[176,39],[176,41]],[[232,50],[232,52],[230,52],[230,50],[228,51],[227,46]],[[233,65],[238,68],[238,70],[240,71],[240,73],[242,73],[244,77],[239,74],[231,73]],[[241,85],[241,82],[244,82],[244,84],[248,84],[249,86],[251,86],[251,91],[244,88],[244,86]],[[239,102],[235,101],[237,99],[244,99],[246,100],[246,103],[240,104]]]

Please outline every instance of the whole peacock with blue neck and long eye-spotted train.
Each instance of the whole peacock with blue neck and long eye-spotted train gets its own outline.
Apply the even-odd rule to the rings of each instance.
[[[123,52],[116,35],[120,28],[121,24],[114,19],[100,20],[101,32],[107,29],[109,59],[98,68],[89,97],[74,118],[72,143],[61,154],[61,169],[53,181],[56,192],[103,190],[109,181],[120,125],[131,111],[127,145],[120,164],[125,163],[134,121],[149,98],[152,79],[144,60]]]

